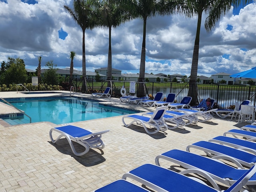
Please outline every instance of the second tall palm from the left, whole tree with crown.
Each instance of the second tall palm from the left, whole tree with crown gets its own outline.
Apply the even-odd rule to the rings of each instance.
[[[128,16],[125,17],[124,11],[118,6],[116,0],[104,0],[101,2],[100,16],[101,23],[100,26],[103,28],[108,28],[108,78],[107,80],[112,80],[112,50],[111,50],[111,30],[116,28],[122,22],[128,20]],[[108,86],[110,87],[110,81],[108,81]]]

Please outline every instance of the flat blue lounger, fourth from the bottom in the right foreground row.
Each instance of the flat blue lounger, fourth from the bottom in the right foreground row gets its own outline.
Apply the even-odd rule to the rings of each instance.
[[[256,163],[256,155],[250,154],[244,150],[235,149],[232,147],[207,142],[199,141],[194,144],[188,145],[186,151],[190,152],[191,148],[204,151],[209,157],[221,156],[237,160],[242,166],[251,167]]]

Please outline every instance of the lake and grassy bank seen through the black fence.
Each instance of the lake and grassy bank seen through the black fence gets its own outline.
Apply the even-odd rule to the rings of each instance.
[[[105,90],[107,82],[103,82],[101,86],[92,86],[92,89]],[[112,84],[112,96],[120,97],[120,90],[122,86],[126,89],[126,94],[129,94],[130,82],[124,81],[111,81]],[[94,84],[96,85],[96,84]],[[164,97],[167,97],[168,93],[175,93],[177,102],[180,102],[184,96],[188,95],[188,83],[158,83],[149,82],[145,83],[145,92],[147,95],[155,96],[157,92],[163,92]],[[256,87],[255,86],[232,86],[221,84],[198,84],[198,100],[207,99],[208,97],[215,100],[218,108],[230,108],[235,102],[241,103],[243,100],[250,100],[251,105],[256,104]],[[138,88],[138,82],[136,82],[136,88]],[[135,93],[136,95],[136,93]]]

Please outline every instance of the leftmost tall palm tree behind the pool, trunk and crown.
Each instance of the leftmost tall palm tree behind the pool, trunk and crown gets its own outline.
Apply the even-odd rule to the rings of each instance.
[[[74,10],[68,6],[64,8],[70,13],[75,22],[82,28],[82,92],[87,91],[86,85],[86,63],[85,63],[85,30],[93,29],[98,25],[96,10],[99,8],[97,0],[74,0]]]

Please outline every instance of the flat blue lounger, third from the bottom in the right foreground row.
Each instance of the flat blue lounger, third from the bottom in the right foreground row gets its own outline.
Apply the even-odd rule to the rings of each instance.
[[[181,174],[200,174],[211,183],[216,183],[216,180],[228,186],[234,184],[234,182],[239,180],[239,178],[247,172],[247,169],[234,168],[211,158],[182,150],[170,150],[156,156],[156,165],[160,166],[160,162],[162,162],[162,160],[170,161],[185,168],[185,170],[180,172]],[[252,185],[255,184],[256,175],[252,176],[250,180],[248,180],[246,188],[250,189],[251,187],[254,187]]]

